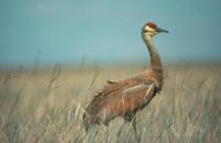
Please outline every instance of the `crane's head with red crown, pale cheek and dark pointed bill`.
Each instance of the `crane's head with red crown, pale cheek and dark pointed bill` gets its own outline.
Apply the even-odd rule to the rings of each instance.
[[[145,34],[145,35],[152,36],[158,33],[169,33],[169,32],[158,28],[154,22],[146,23],[141,29],[141,34]]]

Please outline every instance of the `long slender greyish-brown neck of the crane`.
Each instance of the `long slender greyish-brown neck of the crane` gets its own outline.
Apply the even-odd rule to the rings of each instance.
[[[159,54],[157,53],[157,50],[156,50],[155,44],[152,42],[152,37],[150,35],[143,34],[143,40],[144,40],[144,42],[147,45],[147,48],[149,51],[150,69],[154,72],[155,77],[159,82],[159,88],[161,88],[162,80],[164,80],[164,67],[162,67]]]

